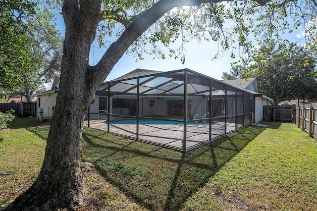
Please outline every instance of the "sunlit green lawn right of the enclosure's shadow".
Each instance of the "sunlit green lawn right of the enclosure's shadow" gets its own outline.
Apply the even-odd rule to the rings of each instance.
[[[282,123],[278,129],[279,123],[267,124],[186,204],[206,193],[221,196],[223,207],[242,201],[254,210],[317,210],[316,140],[294,124]]]

